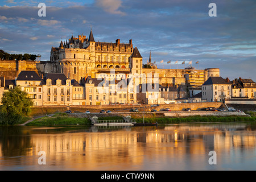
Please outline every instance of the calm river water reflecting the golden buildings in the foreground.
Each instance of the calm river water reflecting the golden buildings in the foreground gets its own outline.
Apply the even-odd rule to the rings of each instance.
[[[0,170],[255,169],[252,122],[0,127]]]

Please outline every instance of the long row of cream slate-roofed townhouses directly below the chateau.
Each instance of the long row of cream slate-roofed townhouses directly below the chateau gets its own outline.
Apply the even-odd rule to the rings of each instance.
[[[47,73],[41,78],[34,71],[22,71],[15,80],[0,77],[0,84],[0,97],[6,90],[20,86],[34,100],[34,106],[164,104],[187,96],[179,86],[137,85],[132,78],[107,80],[88,76],[77,82],[64,73]]]

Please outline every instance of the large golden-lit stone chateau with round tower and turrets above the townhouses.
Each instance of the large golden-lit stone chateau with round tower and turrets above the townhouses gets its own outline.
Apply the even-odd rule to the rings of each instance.
[[[210,76],[220,76],[218,68],[158,69],[156,64],[151,63],[151,52],[147,63],[151,68],[143,68],[143,57],[139,49],[133,47],[131,39],[129,43],[120,43],[120,39],[114,43],[96,42],[92,30],[89,38],[85,35],[74,38],[72,35],[69,40],[61,41],[59,47],[52,47],[51,59],[47,64],[42,72],[64,73],[77,82],[88,76],[107,80],[121,80],[129,78],[129,75],[143,75],[146,79],[148,76],[156,76],[159,77],[159,84],[163,86],[188,87],[191,96],[194,95],[193,91],[201,90],[201,85]],[[142,78],[138,84],[143,84]]]

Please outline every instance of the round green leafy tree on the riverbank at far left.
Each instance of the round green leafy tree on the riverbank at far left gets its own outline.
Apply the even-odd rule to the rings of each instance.
[[[18,123],[24,115],[28,115],[33,106],[33,101],[28,98],[27,92],[16,86],[3,93],[0,121],[5,125]]]

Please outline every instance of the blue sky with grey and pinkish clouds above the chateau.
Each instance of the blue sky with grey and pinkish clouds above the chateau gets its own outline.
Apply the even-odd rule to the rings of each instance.
[[[216,17],[208,14],[212,2]],[[38,16],[39,3],[46,4],[46,17]],[[256,82],[255,12],[255,0],[3,0],[0,49],[49,60],[61,39],[89,36],[92,28],[96,41],[133,39],[143,62],[151,50],[158,68],[184,68],[192,61],[199,69],[220,68],[224,78]]]

